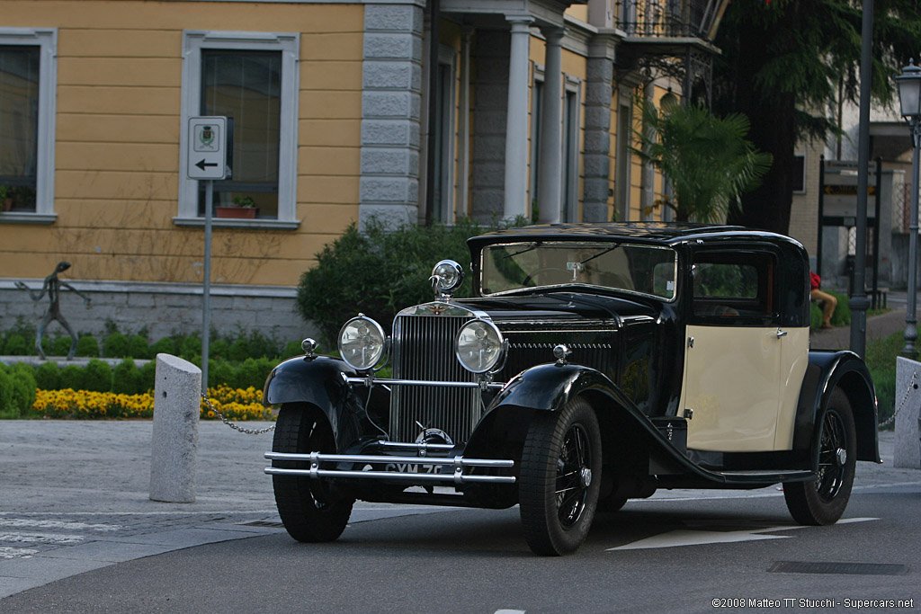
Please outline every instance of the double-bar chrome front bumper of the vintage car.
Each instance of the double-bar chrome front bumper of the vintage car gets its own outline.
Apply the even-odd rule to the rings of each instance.
[[[464,473],[464,469],[480,468],[511,468],[515,466],[514,460],[499,458],[432,458],[422,457],[393,457],[387,455],[365,454],[288,454],[284,452],[266,452],[265,458],[270,460],[295,460],[309,462],[309,469],[282,469],[266,467],[269,475],[299,475],[311,479],[319,478],[357,478],[361,480],[407,481],[419,484],[440,482],[454,483],[455,485],[471,483],[514,484],[515,476],[500,475],[471,475]],[[453,468],[451,473],[416,473],[413,471],[378,471],[355,469],[320,469],[321,463],[363,463],[366,465],[404,465],[407,468],[417,465],[432,465],[435,467]]]

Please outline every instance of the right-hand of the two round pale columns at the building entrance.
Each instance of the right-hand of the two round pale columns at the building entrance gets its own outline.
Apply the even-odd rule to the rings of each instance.
[[[563,34],[562,28],[543,29],[546,56],[543,67],[540,180],[537,206],[540,220],[560,221],[563,206]]]

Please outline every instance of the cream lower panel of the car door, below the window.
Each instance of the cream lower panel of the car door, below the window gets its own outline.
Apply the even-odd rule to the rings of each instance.
[[[719,452],[775,449],[781,347],[774,328],[689,326],[682,408],[688,447]]]

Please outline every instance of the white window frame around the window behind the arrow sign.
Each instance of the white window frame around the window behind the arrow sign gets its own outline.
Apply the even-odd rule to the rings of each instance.
[[[180,130],[179,214],[177,226],[202,226],[198,215],[198,181],[186,176],[188,168],[186,127],[190,117],[201,115],[202,50],[241,50],[281,52],[282,90],[278,145],[278,218],[215,218],[216,226],[297,228],[297,99],[300,91],[298,54],[300,35],[289,32],[235,32],[183,30],[182,32],[182,111]]]

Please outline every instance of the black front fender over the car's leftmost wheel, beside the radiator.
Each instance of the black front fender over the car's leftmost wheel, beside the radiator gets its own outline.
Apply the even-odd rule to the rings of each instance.
[[[366,399],[359,396],[346,377],[358,377],[358,373],[337,358],[290,358],[277,365],[265,379],[262,403],[316,406],[329,419],[336,449],[342,451],[377,431],[367,419]]]

